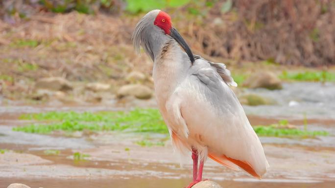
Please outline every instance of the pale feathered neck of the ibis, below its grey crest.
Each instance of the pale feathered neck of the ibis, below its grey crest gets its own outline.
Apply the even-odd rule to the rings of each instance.
[[[165,106],[169,96],[184,80],[190,66],[187,54],[176,41],[167,40],[160,47],[159,55],[155,57],[152,74],[159,106]]]

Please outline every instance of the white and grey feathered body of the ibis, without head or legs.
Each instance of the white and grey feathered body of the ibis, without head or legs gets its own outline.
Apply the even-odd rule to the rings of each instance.
[[[164,57],[155,60],[153,79],[174,148],[193,147],[202,159],[212,154],[245,162],[259,177],[266,172],[263,147],[228,86],[237,84],[223,64],[196,57],[191,65],[188,56],[173,43]],[[221,162],[238,169],[233,160],[223,157]]]

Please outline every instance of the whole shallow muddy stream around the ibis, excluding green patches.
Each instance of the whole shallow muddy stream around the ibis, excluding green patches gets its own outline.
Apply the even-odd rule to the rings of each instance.
[[[262,137],[271,168],[261,181],[211,160],[205,164],[204,178],[219,183],[223,188],[334,188],[333,91],[334,86],[314,83],[286,84],[281,91],[247,90],[278,99],[278,104],[273,106],[244,106],[252,125],[273,124],[285,117],[291,124],[304,126],[307,113],[308,129],[327,130],[331,135],[316,139]],[[299,95],[299,92],[304,94]],[[297,103],[291,102],[293,100]],[[310,110],[313,105],[313,110]],[[31,123],[18,120],[21,113],[123,109],[124,106],[103,105],[0,106],[0,149],[12,150],[0,154],[0,188],[14,182],[31,188],[182,188],[188,185],[191,181],[189,155],[174,154],[169,141],[165,146],[141,147],[135,144],[148,137],[153,142],[158,141],[166,135],[101,132],[73,138],[12,131],[13,126]],[[285,109],[289,109],[289,113]],[[61,153],[46,155],[46,149],[58,149]],[[74,152],[89,157],[74,161]]]

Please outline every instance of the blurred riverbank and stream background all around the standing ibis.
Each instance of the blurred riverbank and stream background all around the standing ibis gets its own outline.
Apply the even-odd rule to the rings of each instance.
[[[153,9],[227,65],[271,166],[259,181],[208,160],[205,178],[334,187],[335,0],[0,0],[2,187],[189,184],[191,155],[172,154],[153,63],[131,42]]]

